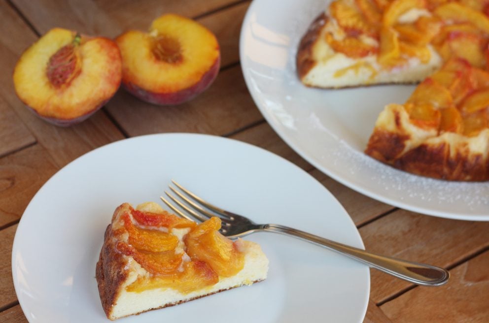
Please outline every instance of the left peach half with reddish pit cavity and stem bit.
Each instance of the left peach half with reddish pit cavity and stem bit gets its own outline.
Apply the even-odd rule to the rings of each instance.
[[[99,110],[120,86],[117,44],[55,28],[20,57],[13,73],[17,96],[57,126],[79,123]]]

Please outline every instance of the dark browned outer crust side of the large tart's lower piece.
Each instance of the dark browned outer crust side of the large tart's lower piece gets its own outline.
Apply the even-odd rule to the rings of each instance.
[[[365,154],[403,171],[435,179],[472,182],[489,180],[488,159],[482,155],[468,158],[463,150],[459,150],[453,157],[450,154],[450,142],[422,143],[399,156],[408,139],[408,135],[374,129]]]

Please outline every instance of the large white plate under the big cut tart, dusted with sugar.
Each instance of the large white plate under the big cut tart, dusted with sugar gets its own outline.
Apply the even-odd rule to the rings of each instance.
[[[363,154],[384,105],[404,102],[413,86],[307,88],[296,76],[300,38],[324,0],[254,0],[240,41],[246,85],[279,136],[322,172],[353,190],[424,214],[489,220],[489,185],[411,175]]]

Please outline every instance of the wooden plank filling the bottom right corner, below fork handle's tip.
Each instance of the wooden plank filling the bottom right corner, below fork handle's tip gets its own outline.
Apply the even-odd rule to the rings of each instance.
[[[452,269],[446,285],[417,287],[385,303],[381,309],[395,323],[487,323],[488,268],[486,251]]]

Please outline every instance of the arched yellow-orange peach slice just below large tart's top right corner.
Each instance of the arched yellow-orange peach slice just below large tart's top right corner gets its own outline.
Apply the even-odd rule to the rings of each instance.
[[[434,14],[444,21],[470,23],[489,34],[489,18],[480,11],[457,2],[443,4],[434,10]]]

